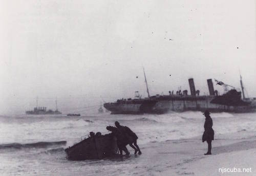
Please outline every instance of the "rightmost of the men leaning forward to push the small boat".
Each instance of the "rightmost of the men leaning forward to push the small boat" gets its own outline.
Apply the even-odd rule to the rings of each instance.
[[[139,155],[141,154],[140,148],[137,145],[137,135],[127,126],[122,126],[119,124],[118,121],[115,122],[115,125],[118,129],[120,129],[120,131],[129,139],[129,141],[131,141],[131,143],[129,143],[129,145],[134,148],[134,146],[132,144],[135,145],[136,148],[135,149],[135,153],[137,153],[137,151],[139,151]]]

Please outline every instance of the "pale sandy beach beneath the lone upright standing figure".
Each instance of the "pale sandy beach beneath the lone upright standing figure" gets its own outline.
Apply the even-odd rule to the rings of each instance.
[[[126,164],[116,165],[110,175],[256,175],[256,135],[246,131],[216,135],[210,156],[203,155],[207,143],[200,137],[156,141],[141,149],[141,156],[124,157]],[[222,167],[251,168],[252,172],[223,174],[219,172]]]

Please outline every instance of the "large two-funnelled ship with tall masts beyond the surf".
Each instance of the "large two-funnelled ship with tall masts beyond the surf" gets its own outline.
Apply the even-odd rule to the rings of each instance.
[[[144,72],[144,69],[143,69]],[[191,95],[187,94],[187,90],[181,92],[181,89],[174,94],[169,91],[169,95],[150,96],[148,91],[146,76],[144,72],[146,90],[148,97],[141,98],[135,96],[135,99],[119,99],[116,102],[104,103],[104,107],[111,111],[111,114],[164,114],[169,111],[205,111],[210,112],[234,112],[246,113],[256,111],[256,98],[245,98],[242,77],[240,80],[243,99],[241,92],[234,89],[233,86],[224,84],[221,81],[215,80],[217,84],[225,86],[226,93],[218,95],[218,91],[214,90],[212,79],[207,79],[209,88],[209,96],[201,96],[200,91],[195,89],[194,79],[188,79]],[[227,90],[230,86],[232,89]]]

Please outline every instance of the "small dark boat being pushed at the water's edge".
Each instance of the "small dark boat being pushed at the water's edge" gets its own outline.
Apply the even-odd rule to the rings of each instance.
[[[69,160],[94,160],[116,156],[118,152],[113,134],[90,133],[90,137],[65,149]]]

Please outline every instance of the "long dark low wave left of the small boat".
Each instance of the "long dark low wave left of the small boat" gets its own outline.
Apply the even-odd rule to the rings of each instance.
[[[47,148],[53,145],[66,145],[67,141],[56,141],[56,142],[36,142],[36,143],[28,143],[28,144],[20,144],[20,143],[10,143],[10,144],[1,144],[0,149],[7,148]]]

